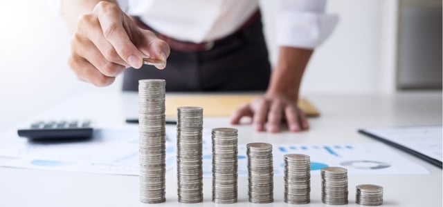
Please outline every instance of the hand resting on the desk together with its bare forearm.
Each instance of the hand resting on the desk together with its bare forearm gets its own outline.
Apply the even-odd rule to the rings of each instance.
[[[297,100],[302,75],[312,52],[281,46],[266,95],[235,111],[230,123],[238,124],[242,117],[252,117],[257,131],[279,132],[282,121],[287,122],[292,132],[308,130],[309,124],[298,108]]]

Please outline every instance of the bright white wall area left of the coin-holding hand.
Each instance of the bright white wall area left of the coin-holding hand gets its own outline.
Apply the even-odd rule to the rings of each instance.
[[[0,1],[0,131],[69,95],[98,90],[66,65],[70,35],[55,2]]]

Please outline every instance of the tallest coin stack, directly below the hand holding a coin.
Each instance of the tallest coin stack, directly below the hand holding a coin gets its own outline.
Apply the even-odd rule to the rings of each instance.
[[[165,199],[165,80],[138,81],[140,201]]]

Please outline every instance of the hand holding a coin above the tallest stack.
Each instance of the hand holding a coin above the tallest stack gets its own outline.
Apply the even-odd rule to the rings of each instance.
[[[165,41],[138,28],[116,3],[100,1],[78,19],[68,63],[78,79],[109,86],[125,68],[141,68],[143,57],[166,61],[169,54]]]

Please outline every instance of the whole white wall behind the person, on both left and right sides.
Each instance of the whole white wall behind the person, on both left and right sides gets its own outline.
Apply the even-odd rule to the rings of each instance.
[[[75,93],[120,90],[121,79],[95,88],[78,81],[66,66],[69,34],[55,2],[0,1],[0,130]],[[341,21],[311,59],[302,94],[392,92],[395,2],[330,0],[329,12]],[[262,6],[269,26],[275,1],[264,0]]]

